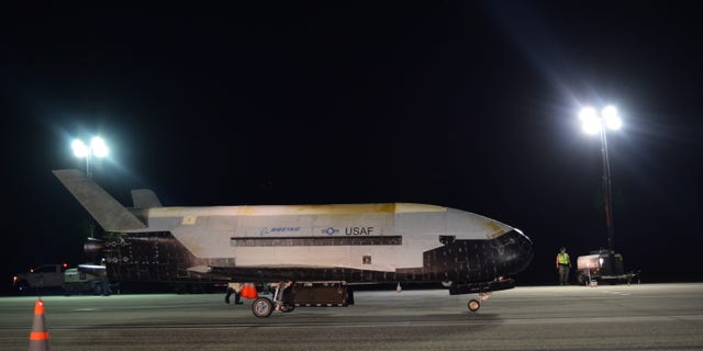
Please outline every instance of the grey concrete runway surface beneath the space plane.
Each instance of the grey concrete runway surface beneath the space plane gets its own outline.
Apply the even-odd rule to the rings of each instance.
[[[46,296],[60,350],[703,350],[703,284],[356,292],[349,307],[256,318],[224,294]],[[36,297],[0,298],[0,349],[26,350]]]

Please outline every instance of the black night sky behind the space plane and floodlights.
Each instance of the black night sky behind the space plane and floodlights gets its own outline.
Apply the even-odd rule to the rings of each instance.
[[[703,280],[695,3],[150,3],[1,7],[8,282],[86,260],[87,212],[51,170],[85,170],[70,141],[99,134],[94,179],[123,204],[456,207],[521,228],[517,284],[554,284],[560,246],[607,246],[600,139],[577,120],[607,103],[625,269]]]

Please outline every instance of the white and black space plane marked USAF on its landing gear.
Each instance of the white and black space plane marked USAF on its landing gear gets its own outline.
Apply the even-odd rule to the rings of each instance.
[[[54,174],[104,229],[91,241],[115,281],[219,281],[272,291],[252,310],[347,306],[349,285],[437,283],[449,294],[512,288],[533,258],[518,229],[413,203],[165,207],[133,190],[125,207],[78,170]],[[244,294],[243,294],[244,296]],[[247,297],[247,296],[245,296]],[[252,296],[254,297],[254,296]]]

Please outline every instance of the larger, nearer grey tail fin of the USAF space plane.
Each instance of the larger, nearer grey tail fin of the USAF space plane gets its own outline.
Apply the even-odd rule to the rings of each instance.
[[[105,231],[145,229],[146,225],[100,185],[75,169],[52,171]]]

